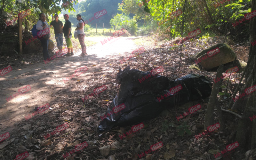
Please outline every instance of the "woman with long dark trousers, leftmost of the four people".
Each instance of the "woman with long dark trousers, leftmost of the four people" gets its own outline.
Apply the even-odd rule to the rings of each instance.
[[[43,46],[44,60],[53,60],[53,59],[50,59],[50,56],[48,53],[48,44],[49,44],[49,38],[50,38],[50,25],[46,22],[45,19],[46,19],[45,14],[40,13],[39,20],[36,23],[36,29],[40,30],[39,32],[37,32],[37,36]]]

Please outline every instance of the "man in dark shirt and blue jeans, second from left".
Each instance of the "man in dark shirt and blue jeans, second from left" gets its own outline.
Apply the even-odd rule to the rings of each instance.
[[[54,29],[54,35],[55,35],[55,39],[57,42],[57,47],[59,48],[59,51],[62,53],[62,46],[63,46],[63,33],[62,33],[62,28],[63,28],[63,23],[62,21],[58,20],[59,19],[59,15],[55,14],[54,15],[54,19],[51,23],[50,26]]]

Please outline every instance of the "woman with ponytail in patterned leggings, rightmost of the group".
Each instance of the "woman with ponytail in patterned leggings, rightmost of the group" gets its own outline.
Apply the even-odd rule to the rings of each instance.
[[[79,56],[85,56],[85,55],[87,55],[87,53],[86,53],[86,46],[84,44],[84,37],[85,37],[84,20],[82,19],[80,14],[76,15],[76,19],[78,20],[78,24],[76,25],[77,36],[78,36],[78,40],[79,40],[79,43],[82,48],[82,53]]]

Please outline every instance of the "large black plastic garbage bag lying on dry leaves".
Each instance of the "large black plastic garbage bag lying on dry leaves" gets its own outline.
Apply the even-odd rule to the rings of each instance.
[[[117,80],[121,85],[116,98],[101,117],[100,131],[149,120],[158,116],[165,108],[211,94],[211,82],[204,76],[189,74],[169,81],[165,76],[152,76],[150,72],[131,70],[129,66],[123,71],[119,70]],[[141,80],[143,77],[144,81]]]

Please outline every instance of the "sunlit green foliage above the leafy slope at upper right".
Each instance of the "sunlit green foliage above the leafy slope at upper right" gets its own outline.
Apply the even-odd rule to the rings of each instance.
[[[137,4],[140,4],[142,1],[146,2],[146,0],[137,0]],[[244,14],[251,12],[250,7],[252,0],[226,1],[217,6],[216,4],[218,2],[219,1],[206,0],[208,10],[206,7],[202,8],[202,6],[205,6],[204,1],[188,0],[185,11],[183,11],[184,1],[179,0],[150,0],[143,5],[148,7],[150,15],[153,17],[154,21],[159,24],[158,28],[160,32],[166,32],[168,30],[168,34],[171,37],[181,36],[182,20],[184,19],[184,37],[188,36],[189,32],[200,28],[202,32],[212,31],[215,35],[228,33],[229,36],[247,41],[249,37],[249,23],[244,26],[240,24],[240,26],[236,26],[235,28],[232,26],[232,23],[236,20],[243,19]],[[129,9],[131,12],[134,12],[136,8],[138,8],[137,6],[132,6],[134,2],[132,4],[127,2],[127,5],[127,7],[123,6],[123,12],[126,14],[129,12]],[[171,19],[170,14],[179,9],[184,13]],[[166,19],[168,20],[166,21]],[[202,36],[202,34],[199,36]],[[206,38],[206,40],[208,40],[208,38]]]

